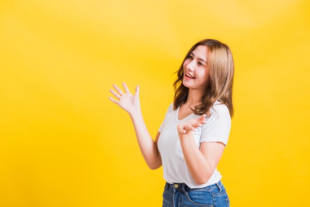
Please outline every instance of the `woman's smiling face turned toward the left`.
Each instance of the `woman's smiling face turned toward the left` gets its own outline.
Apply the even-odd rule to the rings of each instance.
[[[191,89],[205,89],[209,81],[207,64],[207,46],[199,45],[192,51],[183,63],[183,85]],[[189,78],[186,74],[194,76]]]

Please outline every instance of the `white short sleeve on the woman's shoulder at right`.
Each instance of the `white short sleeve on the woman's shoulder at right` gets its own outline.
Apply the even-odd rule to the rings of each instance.
[[[229,110],[218,110],[214,112],[207,123],[202,126],[202,136],[200,142],[222,142],[227,146],[231,127]]]

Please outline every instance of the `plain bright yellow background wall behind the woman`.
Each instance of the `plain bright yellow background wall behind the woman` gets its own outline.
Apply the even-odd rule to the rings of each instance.
[[[309,37],[309,0],[2,0],[0,206],[161,206],[162,167],[109,89],[140,84],[155,139],[172,73],[207,38],[235,61],[231,206],[309,205]]]

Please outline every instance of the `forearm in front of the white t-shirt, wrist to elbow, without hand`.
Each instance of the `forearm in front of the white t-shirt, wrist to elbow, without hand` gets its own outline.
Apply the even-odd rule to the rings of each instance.
[[[199,150],[193,133],[179,134],[180,143],[187,167],[198,185],[206,183],[212,175],[212,170],[206,157]]]

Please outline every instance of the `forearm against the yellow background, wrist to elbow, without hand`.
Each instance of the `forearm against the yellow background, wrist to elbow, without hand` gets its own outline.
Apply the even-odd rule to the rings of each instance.
[[[147,126],[142,116],[142,112],[137,111],[136,113],[129,115],[135,128],[140,151],[145,161],[147,162],[147,165],[151,169],[158,168],[157,166],[160,165],[159,162],[161,162],[161,158],[159,157],[159,155],[157,155],[157,147],[155,141],[152,139],[147,129]]]

